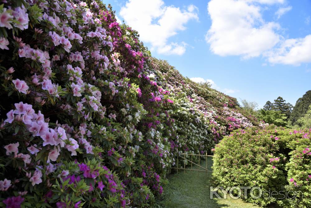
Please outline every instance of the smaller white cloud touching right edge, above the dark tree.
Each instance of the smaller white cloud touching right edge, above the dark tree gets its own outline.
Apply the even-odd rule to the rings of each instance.
[[[311,35],[304,38],[285,40],[280,47],[266,54],[272,64],[290,64],[299,66],[311,62]]]

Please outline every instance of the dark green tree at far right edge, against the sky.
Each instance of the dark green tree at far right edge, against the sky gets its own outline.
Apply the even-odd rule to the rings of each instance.
[[[307,91],[297,100],[293,112],[290,115],[290,121],[292,124],[296,124],[298,119],[306,114],[309,105],[311,105],[311,90]]]

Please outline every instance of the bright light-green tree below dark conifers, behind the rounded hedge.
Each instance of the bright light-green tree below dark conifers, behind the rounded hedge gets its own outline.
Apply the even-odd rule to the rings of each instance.
[[[260,109],[258,111],[258,118],[268,124],[275,124],[277,126],[286,126],[287,117],[281,111],[266,111]]]

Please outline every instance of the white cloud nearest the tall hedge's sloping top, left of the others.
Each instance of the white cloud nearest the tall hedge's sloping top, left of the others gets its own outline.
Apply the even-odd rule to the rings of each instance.
[[[140,40],[151,44],[161,54],[182,55],[187,44],[184,42],[167,43],[168,39],[186,30],[185,24],[190,20],[198,21],[198,8],[189,5],[187,10],[179,7],[165,6],[162,0],[129,0],[120,10],[126,24],[137,30]]]

